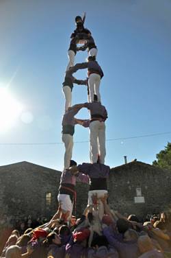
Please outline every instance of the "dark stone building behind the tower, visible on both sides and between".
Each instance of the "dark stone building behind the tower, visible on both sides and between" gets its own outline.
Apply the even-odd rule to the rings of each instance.
[[[23,161],[0,167],[0,208],[6,215],[45,215],[57,211],[61,172]],[[111,169],[109,206],[144,218],[171,203],[171,173],[142,162]],[[86,207],[88,185],[77,183],[77,215]]]

